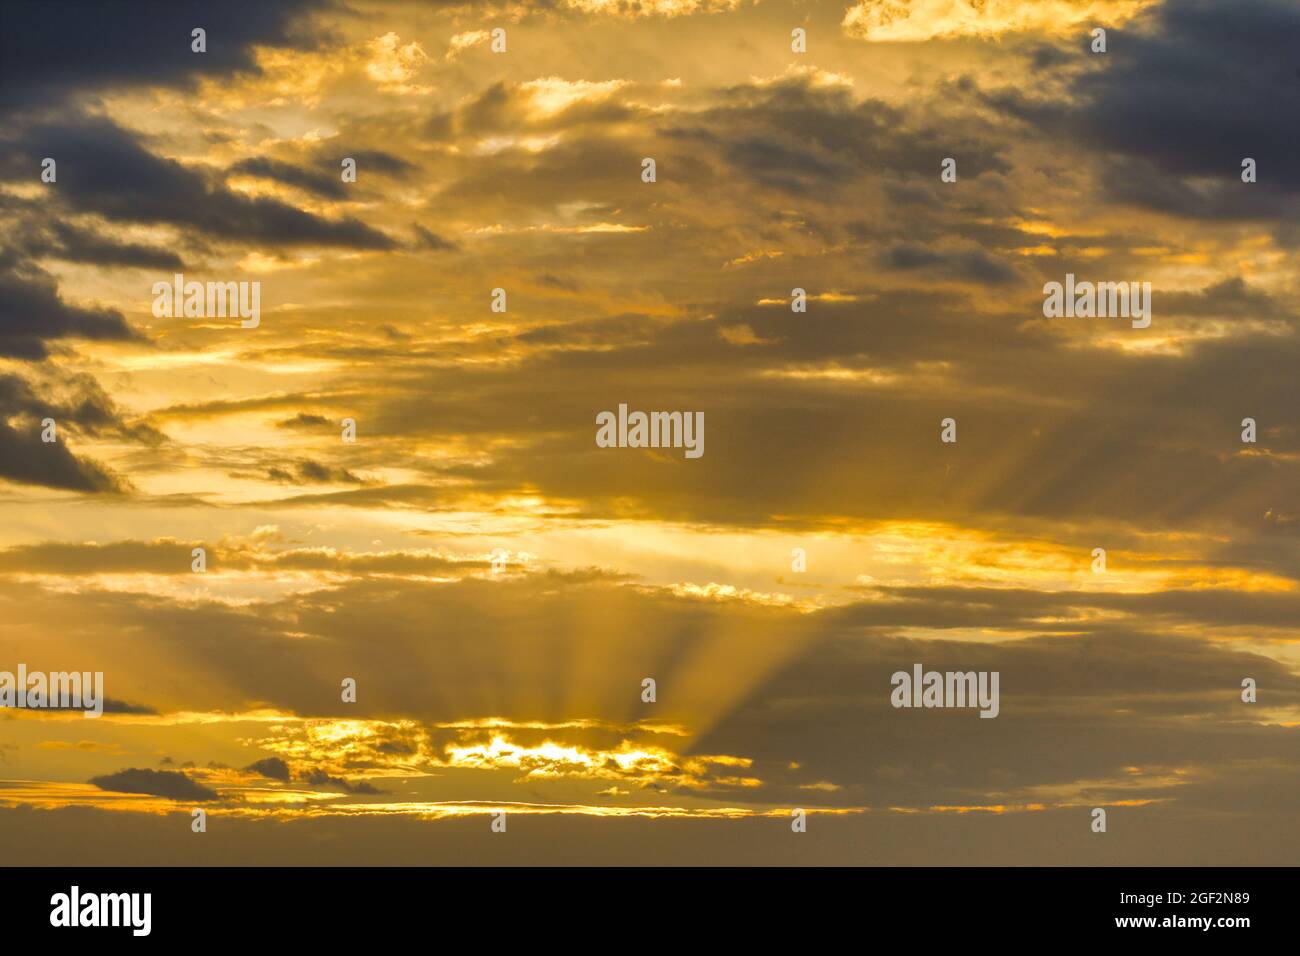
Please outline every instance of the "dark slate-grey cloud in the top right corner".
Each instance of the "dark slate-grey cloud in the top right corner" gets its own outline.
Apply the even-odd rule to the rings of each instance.
[[[1300,134],[1278,117],[1300,113],[1300,8],[1165,0],[1108,39],[1104,55],[1048,53],[1063,83],[978,96],[1037,135],[1102,155],[1098,182],[1113,200],[1191,219],[1294,219]],[[1256,183],[1242,182],[1245,157]]]

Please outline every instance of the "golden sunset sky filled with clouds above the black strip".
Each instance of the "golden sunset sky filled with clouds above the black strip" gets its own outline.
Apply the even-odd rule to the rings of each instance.
[[[0,710],[8,858],[1300,862],[1297,48],[1287,0],[5,4],[0,671],[107,698]]]

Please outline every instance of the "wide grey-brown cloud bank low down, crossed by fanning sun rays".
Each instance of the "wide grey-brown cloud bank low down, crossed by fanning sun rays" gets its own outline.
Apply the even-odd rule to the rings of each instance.
[[[202,661],[213,687],[229,683],[238,696],[281,713],[315,714],[306,722],[278,718],[255,743],[287,766],[311,766],[296,774],[307,783],[354,793],[373,788],[348,775],[422,767],[504,769],[601,786],[650,780],[740,804],[781,804],[796,795],[814,806],[1024,804],[1048,795],[1065,803],[1178,800],[1191,780],[1166,780],[1161,767],[1195,762],[1195,779],[1209,782],[1239,761],[1283,761],[1294,730],[1278,715],[1300,708],[1300,678],[1286,665],[1174,633],[1204,620],[1286,627],[1294,594],[1257,601],[1248,615],[1240,613],[1245,596],[942,588],[894,589],[801,614],[554,578],[358,581],[247,611],[125,596],[58,600],[103,622],[92,639],[104,653],[139,661],[135,674],[118,666],[126,685],[155,667],[133,650],[139,624],[150,622],[148,646],[168,667]],[[1043,619],[1067,620],[1069,632],[1015,636]],[[422,639],[428,620],[442,622],[436,644]],[[1135,622],[1143,626],[1135,630]],[[621,635],[616,659],[601,652],[611,628]],[[906,636],[919,628],[978,628],[1001,640]],[[566,654],[592,666],[562,671],[555,662]],[[512,670],[508,662],[520,656],[533,663]],[[710,665],[716,661],[729,662],[725,676]],[[915,662],[998,671],[998,718],[890,708],[889,675]],[[356,674],[364,700],[322,710],[332,689],[337,700],[341,672]],[[638,688],[645,674],[672,688],[662,693],[655,722],[680,724],[684,735],[634,723],[645,710],[628,688]],[[1243,676],[1258,682],[1262,710],[1239,700]],[[538,721],[529,688],[552,680],[567,705]],[[474,706],[467,688],[484,684],[499,691],[486,705],[498,717],[468,722],[465,714],[485,705]],[[186,700],[202,706],[202,697],[191,692]],[[845,750],[849,728],[872,741],[870,756]],[[1024,761],[1024,753],[1037,756]],[[1145,770],[1134,777],[1126,767],[1135,766]],[[248,770],[280,779],[282,769]],[[819,783],[833,787],[807,790]],[[1079,788],[1096,793],[1086,797]]]

